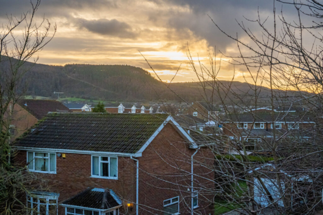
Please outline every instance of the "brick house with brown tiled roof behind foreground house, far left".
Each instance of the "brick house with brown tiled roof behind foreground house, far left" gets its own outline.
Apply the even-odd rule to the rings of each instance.
[[[12,105],[11,105],[12,107]],[[20,136],[48,112],[71,112],[57,100],[21,99],[14,105],[13,114],[10,117],[10,132],[14,138]],[[9,116],[6,116],[9,118]]]

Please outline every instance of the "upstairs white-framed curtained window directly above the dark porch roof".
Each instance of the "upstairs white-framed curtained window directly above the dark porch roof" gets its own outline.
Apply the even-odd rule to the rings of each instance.
[[[118,179],[118,158],[92,156],[92,177]]]

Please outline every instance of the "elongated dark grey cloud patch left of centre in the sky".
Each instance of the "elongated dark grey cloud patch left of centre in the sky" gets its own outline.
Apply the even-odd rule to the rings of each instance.
[[[105,36],[115,36],[120,38],[136,38],[137,36],[130,25],[125,22],[120,22],[116,19],[76,19],[76,25],[79,28],[84,28],[90,32]]]

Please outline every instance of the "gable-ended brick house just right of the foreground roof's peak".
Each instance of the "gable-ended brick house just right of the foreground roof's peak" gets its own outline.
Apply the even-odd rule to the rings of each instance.
[[[207,121],[217,121],[219,108],[207,102],[193,102],[183,114],[190,114],[199,119]]]

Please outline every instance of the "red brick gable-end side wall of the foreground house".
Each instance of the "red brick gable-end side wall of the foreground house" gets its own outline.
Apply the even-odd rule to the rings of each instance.
[[[138,158],[140,169],[139,214],[150,214],[148,211],[151,214],[163,214],[164,200],[176,196],[181,196],[181,214],[187,214],[190,211],[187,206],[190,207],[191,205],[191,193],[187,192],[187,188],[191,187],[191,181],[187,180],[187,177],[190,179],[190,159],[194,152],[195,150],[188,148],[187,143],[171,124],[167,124],[153,139],[151,144],[142,153],[142,157]],[[202,158],[203,156],[201,155],[201,153],[197,153],[195,159]],[[213,156],[210,154],[207,156],[210,158],[207,162],[213,163]],[[201,168],[200,165],[195,166],[195,173],[197,172],[207,172],[209,174],[209,171]],[[174,177],[173,175],[177,176]],[[198,180],[201,183],[204,182],[205,186],[209,186],[212,189],[214,187],[214,175],[211,173],[207,177],[210,180],[206,183],[205,180],[198,177],[194,177],[194,180]],[[175,184],[179,184],[179,186]],[[145,205],[148,205],[150,208]],[[212,209],[213,206],[203,202],[202,199],[199,202],[199,208],[196,208],[202,214],[212,213]]]

